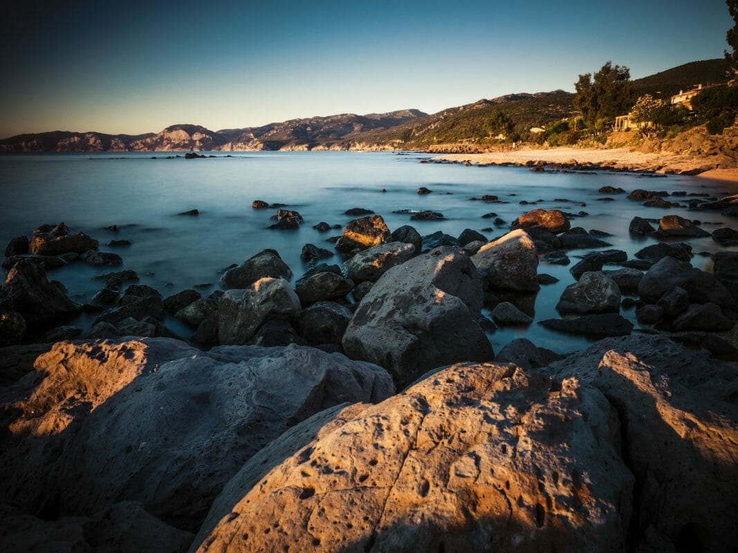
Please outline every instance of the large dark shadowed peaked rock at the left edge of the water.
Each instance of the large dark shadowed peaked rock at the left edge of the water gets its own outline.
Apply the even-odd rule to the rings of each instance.
[[[18,312],[27,325],[61,320],[78,309],[61,283],[49,282],[44,269],[28,260],[13,265],[0,288],[0,311]]]

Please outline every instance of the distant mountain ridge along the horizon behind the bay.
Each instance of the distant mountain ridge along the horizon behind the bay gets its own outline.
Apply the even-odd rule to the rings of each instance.
[[[698,83],[725,82],[723,58],[694,61],[635,79],[636,96],[669,97]],[[573,79],[572,79],[573,80]],[[500,110],[517,125],[540,127],[576,113],[574,94],[563,90],[505,94],[435,114],[417,109],[386,114],[339,114],[291,119],[259,127],[211,131],[200,125],[170,125],[159,133],[20,134],[0,140],[0,152],[125,152],[125,151],[253,151],[253,150],[392,150],[425,148],[475,139],[487,133],[485,123]]]

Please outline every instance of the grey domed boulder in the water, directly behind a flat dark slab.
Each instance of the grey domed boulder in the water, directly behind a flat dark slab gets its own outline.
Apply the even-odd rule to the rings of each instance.
[[[582,274],[578,282],[568,285],[556,304],[559,313],[618,313],[620,288],[601,271]]]

